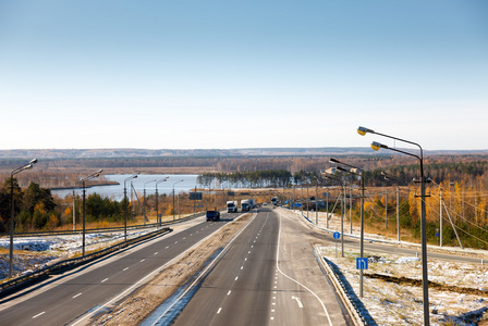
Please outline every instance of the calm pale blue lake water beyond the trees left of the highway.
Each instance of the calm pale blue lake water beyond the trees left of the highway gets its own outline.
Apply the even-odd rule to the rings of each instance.
[[[124,180],[131,177],[131,174],[109,174],[105,175],[108,180],[118,181],[119,185],[110,185],[110,186],[96,186],[86,188],[86,195],[98,193],[101,197],[112,198],[114,200],[122,200],[124,198]],[[198,175],[156,175],[156,174],[139,174],[137,178],[130,179],[125,181],[125,187],[127,189],[127,196],[131,193],[131,183],[134,187],[135,191],[144,195],[144,188],[146,188],[146,196],[156,193],[156,181],[158,181],[168,177],[168,179],[163,183],[158,184],[158,193],[167,193],[170,195],[173,191],[174,193],[179,193],[180,191],[188,192],[188,190],[195,189],[195,186],[198,187],[197,177]],[[183,181],[180,181],[183,180]],[[82,195],[82,188],[74,189],[76,195]],[[73,195],[73,189],[59,189],[51,190],[52,195],[57,195],[61,198]]]

